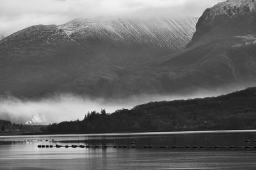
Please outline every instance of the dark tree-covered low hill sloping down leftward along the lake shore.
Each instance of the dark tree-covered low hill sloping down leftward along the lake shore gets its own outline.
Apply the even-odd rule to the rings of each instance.
[[[92,111],[82,121],[49,125],[47,132],[256,129],[255,101],[256,87],[218,97],[152,102],[111,114]]]

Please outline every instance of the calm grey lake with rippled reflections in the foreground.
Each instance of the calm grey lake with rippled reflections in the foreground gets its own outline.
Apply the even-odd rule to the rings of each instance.
[[[255,139],[256,131],[0,136],[0,169],[256,169]]]

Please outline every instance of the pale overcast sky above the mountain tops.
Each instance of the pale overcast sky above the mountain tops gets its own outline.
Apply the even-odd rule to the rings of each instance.
[[[200,17],[220,1],[224,0],[0,0],[0,38],[31,25],[64,24],[81,17]]]

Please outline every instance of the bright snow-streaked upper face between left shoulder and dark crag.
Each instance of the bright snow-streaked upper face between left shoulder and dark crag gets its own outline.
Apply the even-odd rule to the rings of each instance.
[[[197,18],[79,18],[59,25],[72,39],[101,39],[180,50],[195,32]]]

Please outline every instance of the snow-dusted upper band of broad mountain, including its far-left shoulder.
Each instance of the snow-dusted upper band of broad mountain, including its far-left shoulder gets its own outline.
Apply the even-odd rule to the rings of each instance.
[[[86,39],[112,41],[126,45],[146,45],[181,50],[195,32],[197,18],[79,18],[63,25],[35,25],[0,41],[6,45],[63,43]]]

